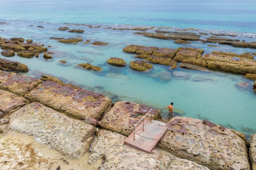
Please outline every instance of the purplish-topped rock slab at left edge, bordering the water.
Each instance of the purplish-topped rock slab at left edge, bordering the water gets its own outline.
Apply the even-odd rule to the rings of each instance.
[[[9,90],[17,95],[25,95],[42,81],[14,72],[0,72],[0,89]]]

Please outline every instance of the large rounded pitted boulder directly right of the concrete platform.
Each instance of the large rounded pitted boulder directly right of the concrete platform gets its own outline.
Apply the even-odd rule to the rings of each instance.
[[[171,119],[160,145],[178,157],[210,169],[250,169],[245,141],[207,120]]]

